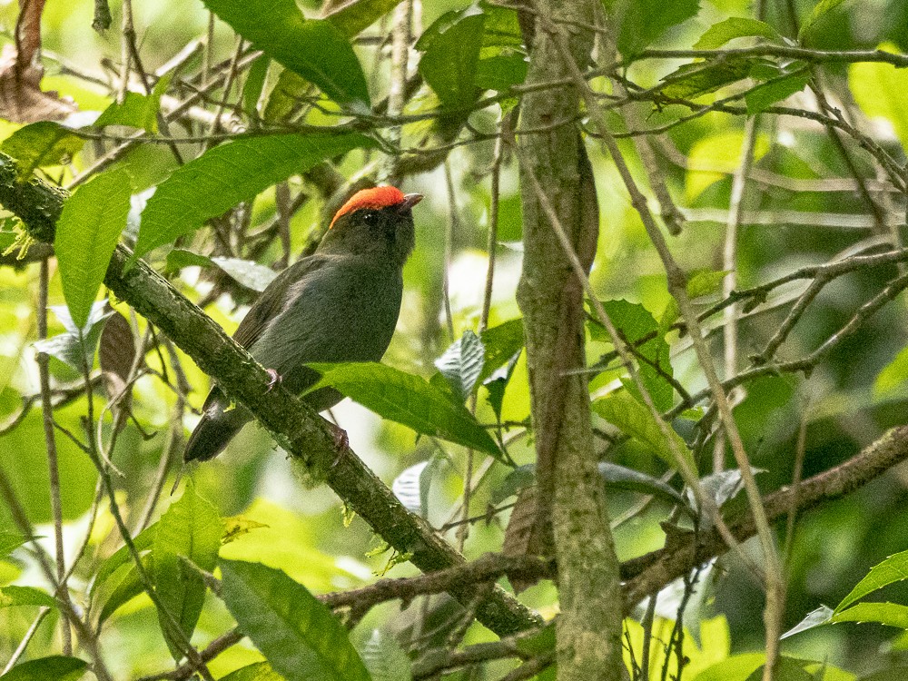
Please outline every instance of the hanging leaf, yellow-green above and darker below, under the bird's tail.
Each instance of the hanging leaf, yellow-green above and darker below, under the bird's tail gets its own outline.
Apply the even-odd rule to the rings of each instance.
[[[191,483],[157,525],[152,540],[154,589],[186,638],[190,638],[202,613],[205,583],[181,557],[211,572],[221,548],[221,518],[212,504],[195,493]],[[158,613],[158,620],[173,659],[179,661],[183,653],[176,632],[163,613]]]

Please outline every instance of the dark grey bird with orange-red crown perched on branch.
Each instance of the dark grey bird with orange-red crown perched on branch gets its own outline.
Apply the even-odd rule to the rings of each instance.
[[[422,195],[377,186],[354,193],[335,213],[311,255],[294,262],[262,291],[233,339],[279,382],[300,394],[320,374],[310,362],[379,361],[400,315],[403,266],[415,245],[411,209]],[[343,399],[333,388],[304,400],[314,410]],[[220,454],[252,412],[214,386],[183,461]]]

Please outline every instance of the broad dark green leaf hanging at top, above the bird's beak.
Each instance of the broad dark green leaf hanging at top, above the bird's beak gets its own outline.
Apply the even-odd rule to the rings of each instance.
[[[425,49],[419,60],[419,73],[448,109],[465,109],[476,100],[476,68],[485,23],[485,15],[463,16],[431,40],[420,40],[417,44],[417,49],[420,44]]]

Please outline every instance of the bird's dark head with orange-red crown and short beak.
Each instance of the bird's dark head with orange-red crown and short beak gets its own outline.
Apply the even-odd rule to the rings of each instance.
[[[421,200],[397,187],[356,192],[335,213],[320,250],[390,257],[402,266],[415,242],[411,209]]]

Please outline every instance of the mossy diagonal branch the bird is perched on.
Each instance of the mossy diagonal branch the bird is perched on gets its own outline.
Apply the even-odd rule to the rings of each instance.
[[[13,160],[0,153],[0,205],[14,212],[38,241],[54,237],[66,192],[37,178],[20,183]],[[429,524],[400,504],[384,483],[350,449],[334,442],[328,423],[286,390],[271,390],[270,376],[252,355],[152,268],[137,262],[124,271],[131,253],[114,252],[104,282],[122,301],[160,328],[216,379],[233,398],[255,414],[275,439],[307,468],[311,479],[326,482],[348,508],[420,570],[430,572],[465,562]],[[469,587],[452,587],[451,596],[469,603]],[[477,619],[499,636],[538,626],[539,618],[501,588],[477,608]]]

